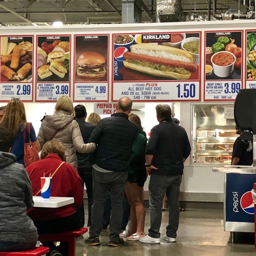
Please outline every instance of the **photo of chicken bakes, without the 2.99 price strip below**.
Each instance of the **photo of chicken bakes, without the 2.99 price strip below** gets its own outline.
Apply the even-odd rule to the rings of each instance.
[[[31,82],[33,37],[1,37],[1,82]]]

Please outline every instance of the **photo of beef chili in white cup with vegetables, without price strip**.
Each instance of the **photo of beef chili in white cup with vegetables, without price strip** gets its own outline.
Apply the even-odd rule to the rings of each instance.
[[[206,80],[240,80],[242,33],[219,31],[206,33]]]

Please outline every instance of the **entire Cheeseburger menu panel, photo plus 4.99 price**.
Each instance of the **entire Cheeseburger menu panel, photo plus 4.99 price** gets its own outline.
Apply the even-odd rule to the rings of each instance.
[[[74,101],[108,101],[109,35],[75,35]]]

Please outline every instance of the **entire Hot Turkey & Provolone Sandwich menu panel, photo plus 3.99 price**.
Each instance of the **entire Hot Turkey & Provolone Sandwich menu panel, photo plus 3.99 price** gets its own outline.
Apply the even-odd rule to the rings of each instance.
[[[70,96],[71,35],[37,36],[35,101]]]

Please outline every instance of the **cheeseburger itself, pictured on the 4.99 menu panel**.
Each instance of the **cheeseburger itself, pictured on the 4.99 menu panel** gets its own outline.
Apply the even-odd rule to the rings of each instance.
[[[80,54],[77,64],[77,75],[83,79],[99,79],[106,75],[106,69],[103,67],[106,60],[97,52],[84,52]]]

